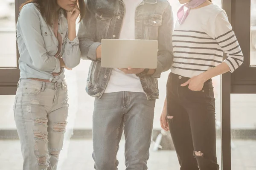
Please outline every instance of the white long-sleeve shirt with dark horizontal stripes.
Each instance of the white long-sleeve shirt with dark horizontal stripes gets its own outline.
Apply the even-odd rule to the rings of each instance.
[[[221,62],[227,63],[233,72],[243,63],[227,14],[214,4],[192,9],[183,24],[176,23],[172,40],[174,74],[193,77]],[[223,53],[228,54],[224,61]]]

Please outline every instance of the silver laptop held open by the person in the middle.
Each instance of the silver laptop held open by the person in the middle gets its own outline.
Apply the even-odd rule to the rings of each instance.
[[[102,39],[103,68],[157,68],[157,40]]]

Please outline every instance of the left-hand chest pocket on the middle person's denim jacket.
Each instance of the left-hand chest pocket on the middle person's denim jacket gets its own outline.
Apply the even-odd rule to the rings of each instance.
[[[113,18],[112,15],[102,13],[97,11],[95,14],[96,17],[96,27],[97,27],[97,39],[105,39],[108,35],[108,29],[111,24],[111,19]]]

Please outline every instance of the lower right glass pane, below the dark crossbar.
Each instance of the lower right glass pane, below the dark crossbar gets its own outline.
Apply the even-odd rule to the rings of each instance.
[[[232,170],[256,170],[256,94],[231,95]]]

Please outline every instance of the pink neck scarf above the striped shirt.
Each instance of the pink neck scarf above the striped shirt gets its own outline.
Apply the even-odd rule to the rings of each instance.
[[[191,8],[196,8],[200,5],[202,5],[205,1],[206,0],[191,0],[188,3],[186,3],[185,5],[183,5],[177,12],[177,17],[178,17],[179,23],[182,24],[186,20],[186,17],[189,15]],[[184,6],[186,6],[188,8],[186,13],[184,11]]]

